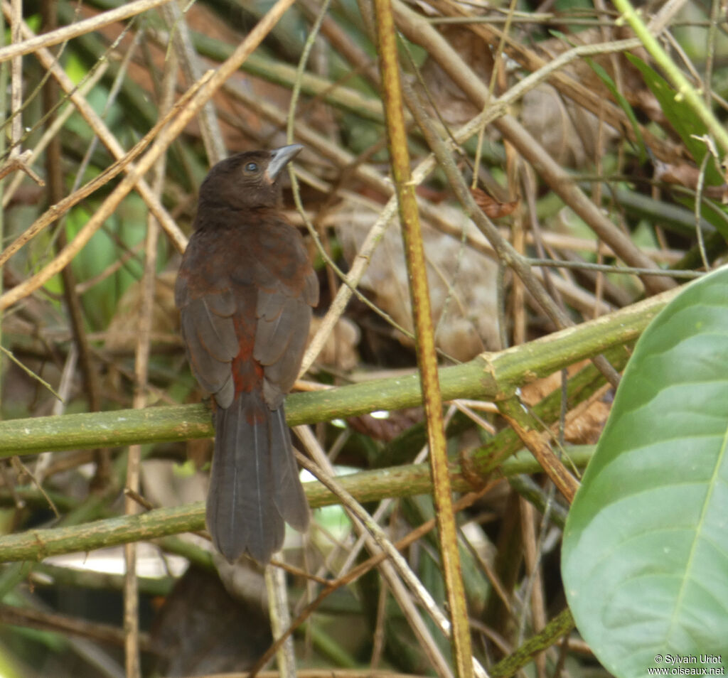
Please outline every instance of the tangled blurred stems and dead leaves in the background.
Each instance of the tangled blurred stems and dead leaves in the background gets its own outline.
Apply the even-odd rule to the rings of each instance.
[[[73,25],[122,5],[114,0],[25,1],[12,6],[3,1],[4,44],[13,41],[10,17],[19,25],[13,7],[22,9],[21,39],[28,39],[32,33]],[[645,17],[666,12],[662,44],[725,119],[725,7],[719,0],[670,5],[671,9],[649,2],[641,9]],[[140,4],[125,20],[42,49],[52,52],[76,88],[74,95],[91,106],[125,152],[159,121],[165,101],[181,95],[199,74],[226,59],[270,6],[267,1],[234,0],[198,0],[176,9],[146,9]],[[644,49],[633,46],[630,59],[622,51],[604,48],[633,37],[611,4],[432,0],[410,7],[470,65],[469,76],[485,83],[494,97],[508,101],[508,113],[566,172],[565,180],[628,236],[635,257],[686,276],[724,260],[728,192],[721,156],[700,138],[705,125],[676,99]],[[321,12],[325,20],[312,33]],[[207,131],[197,120],[191,122],[170,145],[165,164],[147,177],[170,223],[189,234],[197,186],[215,153],[288,143],[290,116],[293,140],[306,145],[297,160],[298,183],[321,247],[309,238],[323,290],[319,318],[341,287],[326,260],[348,271],[391,196],[370,17],[364,0],[360,5],[337,0],[325,7],[316,0],[299,0],[213,97],[216,125]],[[182,35],[189,37],[187,51],[173,43]],[[299,71],[309,39],[310,53]],[[454,135],[481,113],[480,106],[436,63],[427,44],[400,39],[405,79],[426,102],[425,114],[435,119],[443,138]],[[508,99],[529,73],[569,49],[590,44],[603,47],[564,65],[561,81],[545,77],[528,92]],[[23,56],[15,87],[11,60],[1,63],[3,159],[16,163],[1,184],[3,247],[116,160],[108,141],[99,139],[98,127],[71,103],[40,49]],[[584,91],[574,94],[564,81]],[[300,96],[291,109],[293,89],[300,90]],[[597,105],[589,93],[597,95]],[[15,104],[14,95],[19,95]],[[410,152],[419,164],[429,148],[408,119]],[[15,131],[13,121],[20,123]],[[659,290],[654,278],[646,289],[646,277],[619,271],[625,262],[615,257],[611,244],[595,236],[574,205],[532,169],[513,140],[504,139],[502,129],[490,124],[471,127],[453,153],[458,169],[467,183],[477,186],[476,199],[502,236],[534,260],[534,272],[571,320],[579,323],[604,315]],[[25,151],[33,155],[22,160],[14,156]],[[23,163],[31,172],[17,169]],[[3,290],[43,271],[73,243],[121,176],[85,196],[12,255],[2,270]],[[418,199],[443,365],[520,345],[556,329],[518,279],[499,265],[493,248],[454,199],[444,172],[435,169],[420,183]],[[304,219],[288,189],[285,202],[290,219],[303,228]],[[173,305],[182,240],[175,240],[166,228],[151,239],[153,219],[149,200],[132,191],[71,266],[31,295],[3,306],[1,339],[7,354],[2,359],[2,418],[108,411],[141,402],[153,407],[204,397],[186,365]],[[150,251],[156,252],[156,276],[145,286]],[[561,266],[535,266],[535,260],[542,259]],[[670,287],[670,279],[665,280],[662,289]],[[381,236],[359,289],[306,375],[304,389],[316,388],[314,382],[339,386],[416,370],[407,274],[395,224]],[[149,327],[140,321],[145,304],[152,308]],[[317,328],[316,322],[312,332]],[[140,346],[149,350],[142,378]],[[523,399],[535,406],[551,392],[558,394],[560,385],[561,375],[555,375],[529,387]],[[571,404],[569,412],[562,408],[559,435],[564,444],[596,442],[609,412],[611,391],[603,381],[583,397],[587,399]],[[448,404],[448,444],[454,458],[487,444],[504,428],[495,411],[488,403]],[[557,408],[549,421],[557,428],[558,415]],[[419,408],[314,428],[342,469],[411,463],[424,445],[423,430]],[[141,494],[152,506],[202,500],[210,447],[209,441],[144,445]],[[0,490],[1,530],[77,525],[122,514],[126,454],[124,448],[110,447],[8,461]],[[527,466],[519,470],[529,471]],[[565,505],[537,470],[513,476],[510,482],[492,482],[461,514],[474,650],[488,667],[513,653],[565,606],[558,570]],[[290,535],[287,558],[309,573],[336,578],[351,565],[349,557],[357,562],[365,556],[352,551],[356,536],[339,508],[316,511],[316,517],[317,527],[308,538]],[[387,504],[381,522],[395,540],[430,517],[432,501],[420,496]],[[138,572],[143,674],[181,676],[250,668],[269,645],[259,573],[232,573],[210,556],[205,540],[194,535],[185,542],[142,546]],[[0,570],[1,676],[124,675],[121,553],[117,547]],[[406,555],[442,604],[435,538],[419,539]],[[317,586],[306,583],[300,573],[291,575],[294,607],[315,597]],[[448,642],[434,628],[431,631],[438,651],[447,656]],[[299,668],[325,668],[329,674],[355,669],[432,674],[427,653],[376,570],[322,602],[299,629],[296,643],[301,650]],[[525,671],[539,676],[606,675],[575,632],[568,645],[553,645]]]

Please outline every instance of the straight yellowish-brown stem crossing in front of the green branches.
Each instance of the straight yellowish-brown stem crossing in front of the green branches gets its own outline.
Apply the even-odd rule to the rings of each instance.
[[[435,497],[440,554],[448,592],[452,622],[452,648],[455,672],[459,678],[471,678],[472,650],[465,591],[460,571],[457,529],[452,505],[452,488],[448,474],[446,441],[443,428],[442,399],[432,329],[430,292],[422,246],[419,215],[411,183],[407,132],[403,113],[402,89],[397,60],[397,37],[390,0],[375,0],[377,39],[384,110],[387,119],[390,163],[395,180],[400,221],[402,223],[410,295],[416,329],[417,362],[422,383],[422,398],[427,415],[427,438],[430,442],[430,472]]]

